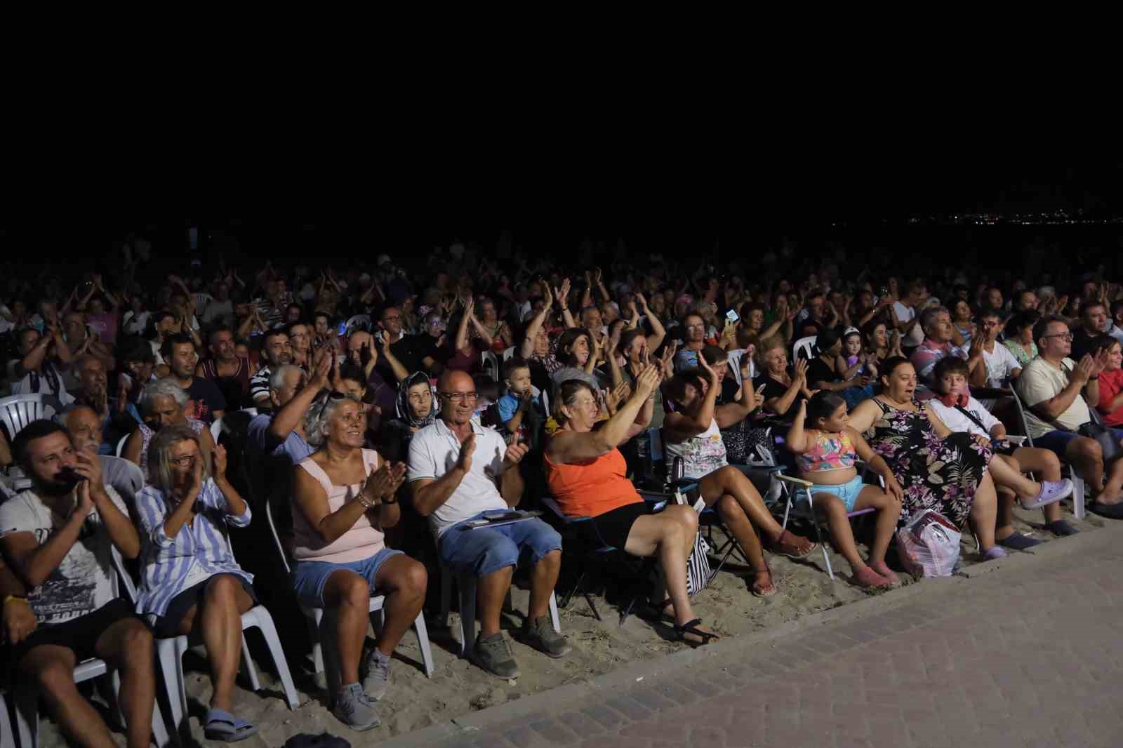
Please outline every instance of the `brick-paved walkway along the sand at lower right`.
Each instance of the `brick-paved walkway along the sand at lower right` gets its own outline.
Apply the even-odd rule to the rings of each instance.
[[[1123,523],[1047,548],[386,745],[1123,746]]]

